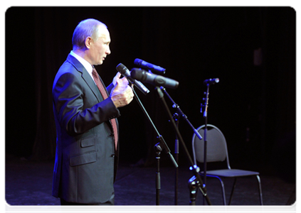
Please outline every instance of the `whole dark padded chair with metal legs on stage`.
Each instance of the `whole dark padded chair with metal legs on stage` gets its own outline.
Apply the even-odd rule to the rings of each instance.
[[[199,138],[194,133],[194,136],[192,137],[192,149],[194,154],[194,164],[196,164],[196,160],[200,163],[204,163],[204,129],[205,125],[200,126],[197,131],[201,134],[203,137],[202,140],[199,140]],[[239,177],[245,177],[245,176],[255,176],[258,180],[258,190],[259,190],[259,197],[260,197],[260,209],[261,212],[264,212],[263,209],[263,195],[261,192],[261,184],[260,184],[260,178],[258,172],[252,172],[248,170],[236,170],[231,169],[229,159],[228,159],[228,150],[227,150],[227,143],[226,138],[223,136],[223,133],[221,130],[219,130],[216,126],[213,126],[211,124],[207,125],[207,155],[206,155],[206,162],[218,162],[218,161],[224,161],[226,160],[227,167],[226,169],[222,170],[207,170],[206,171],[206,177],[213,177],[218,178],[218,180],[221,182],[221,188],[222,188],[222,194],[223,194],[223,209],[225,213],[229,211],[229,207],[231,204],[234,188],[236,187],[236,178]],[[201,172],[201,175],[204,175],[203,172]],[[228,201],[228,207],[226,206],[226,194],[225,194],[225,188],[223,185],[223,180],[221,178],[234,178],[233,187],[231,190],[231,195]]]

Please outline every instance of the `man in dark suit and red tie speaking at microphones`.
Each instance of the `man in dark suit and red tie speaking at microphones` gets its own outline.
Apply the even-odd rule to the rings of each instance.
[[[60,197],[63,213],[114,212],[115,118],[120,116],[118,108],[130,104],[134,94],[120,73],[105,89],[93,66],[102,65],[111,53],[104,23],[81,21],[72,42],[73,51],[53,82],[57,131],[53,196]]]

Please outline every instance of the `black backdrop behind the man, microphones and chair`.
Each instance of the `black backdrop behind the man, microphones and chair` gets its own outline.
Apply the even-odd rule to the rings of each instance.
[[[112,54],[97,67],[105,84],[120,62],[131,69],[140,58],[164,67],[165,77],[179,81],[167,91],[197,128],[204,124],[203,81],[218,77],[208,124],[226,136],[231,164],[297,177],[298,6],[4,6],[4,153],[53,160],[52,84],[85,18],[102,21],[111,34]],[[260,65],[254,50],[261,50]],[[151,93],[137,94],[173,153],[174,130],[146,85]],[[121,162],[151,164],[157,135],[135,100],[120,111]],[[191,151],[193,131],[182,119],[179,129]]]

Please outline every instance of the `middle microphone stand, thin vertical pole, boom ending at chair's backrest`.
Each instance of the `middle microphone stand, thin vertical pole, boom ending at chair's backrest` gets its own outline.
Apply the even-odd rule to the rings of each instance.
[[[169,95],[169,93],[167,92],[167,90],[164,88],[164,87],[160,87],[160,89],[163,90],[163,92],[167,95],[167,97],[169,97],[169,99],[171,100],[172,102],[172,107],[173,108],[176,108],[176,111],[179,113],[175,113],[173,118],[174,118],[174,121],[176,121],[176,128],[178,129],[179,127],[179,115],[181,117],[184,118],[185,121],[187,121],[187,123],[189,124],[189,126],[191,126],[191,129],[193,129],[194,133],[196,133],[196,136],[198,136],[198,138],[201,140],[202,137],[201,135],[199,134],[199,131],[197,131],[194,126],[190,123],[189,119],[187,118],[187,116],[183,113],[183,111],[181,111],[180,107],[178,104],[176,104],[176,102],[174,102],[174,100],[171,98],[171,96]],[[174,153],[175,153],[175,157],[176,157],[176,162],[179,163],[179,139],[178,139],[178,135],[176,134],[176,142],[175,142],[175,146],[174,146]],[[175,196],[174,196],[174,213],[177,213],[178,212],[178,176],[179,176],[179,169],[176,168],[176,178],[175,178]]]

